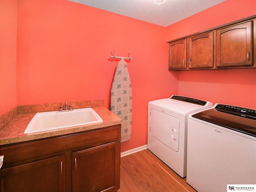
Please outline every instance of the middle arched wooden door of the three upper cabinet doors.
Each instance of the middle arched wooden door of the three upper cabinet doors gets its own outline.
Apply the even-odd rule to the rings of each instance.
[[[213,32],[189,38],[189,68],[213,67]]]

